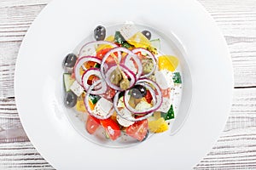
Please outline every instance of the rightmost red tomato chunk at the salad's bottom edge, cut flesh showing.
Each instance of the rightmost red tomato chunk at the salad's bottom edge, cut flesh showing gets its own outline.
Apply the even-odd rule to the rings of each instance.
[[[138,121],[126,128],[126,134],[139,141],[143,141],[148,133],[148,120]]]

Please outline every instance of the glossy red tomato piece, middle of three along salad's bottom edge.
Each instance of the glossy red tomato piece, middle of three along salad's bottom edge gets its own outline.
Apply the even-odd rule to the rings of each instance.
[[[105,120],[101,120],[102,127],[105,128],[106,132],[110,139],[118,139],[121,135],[120,127],[117,122],[114,122],[113,119],[108,118]]]

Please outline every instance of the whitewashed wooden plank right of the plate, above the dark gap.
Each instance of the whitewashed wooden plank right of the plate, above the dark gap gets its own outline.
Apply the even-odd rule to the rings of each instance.
[[[217,22],[229,44],[236,87],[256,84],[256,3],[250,1],[199,1]]]

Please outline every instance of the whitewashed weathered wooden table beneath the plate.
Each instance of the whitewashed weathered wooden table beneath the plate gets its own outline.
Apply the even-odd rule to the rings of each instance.
[[[0,169],[54,169],[26,137],[14,94],[20,43],[49,1],[0,0]],[[256,0],[200,2],[229,45],[235,87],[224,131],[195,169],[256,169]]]

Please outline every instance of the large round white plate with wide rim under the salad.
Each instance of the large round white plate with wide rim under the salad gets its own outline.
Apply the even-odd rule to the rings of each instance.
[[[113,149],[84,139],[71,125],[61,99],[61,62],[95,26],[131,20],[183,44],[193,99],[178,133]],[[186,78],[186,77],[184,77]],[[44,158],[57,169],[189,169],[207,154],[230,112],[233,75],[224,37],[194,0],[55,0],[26,34],[15,70],[20,120]]]

